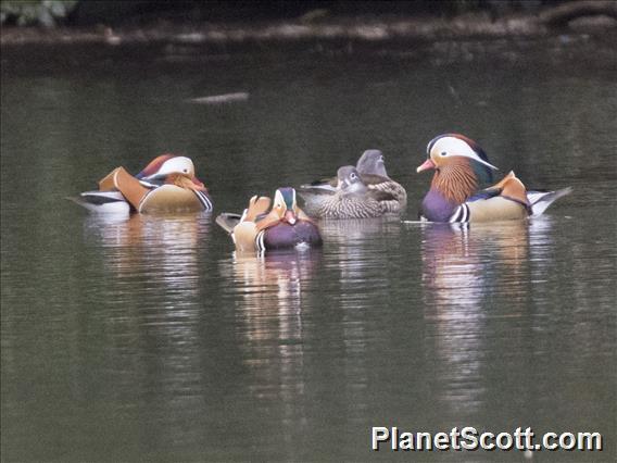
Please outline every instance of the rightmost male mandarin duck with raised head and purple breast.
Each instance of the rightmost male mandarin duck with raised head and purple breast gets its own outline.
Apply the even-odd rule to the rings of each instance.
[[[436,171],[420,211],[421,218],[430,222],[496,222],[537,216],[571,191],[528,191],[514,172],[480,190],[492,183],[492,171],[498,167],[489,163],[474,140],[458,134],[433,138],[427,155],[417,172]]]

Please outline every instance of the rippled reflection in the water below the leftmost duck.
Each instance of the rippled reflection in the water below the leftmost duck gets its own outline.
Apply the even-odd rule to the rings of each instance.
[[[169,448],[201,438],[200,427],[187,429],[186,423],[207,399],[201,390],[207,352],[200,333],[200,250],[210,226],[204,213],[97,214],[85,222],[86,239],[97,241],[109,274],[88,288],[102,291],[88,313],[110,337],[104,355],[114,395],[139,391],[135,414],[163,423],[146,433]]]

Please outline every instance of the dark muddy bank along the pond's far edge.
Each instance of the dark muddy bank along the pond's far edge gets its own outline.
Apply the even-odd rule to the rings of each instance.
[[[319,12],[294,21],[259,23],[176,23],[158,21],[141,26],[93,26],[88,28],[2,27],[2,47],[55,43],[175,43],[239,45],[281,41],[437,40],[457,38],[541,37],[558,33],[605,34],[617,29],[617,2],[583,10],[551,9],[541,14],[518,14],[493,18],[488,13],[469,13],[453,18],[417,16],[322,17]],[[585,3],[594,4],[593,2]]]

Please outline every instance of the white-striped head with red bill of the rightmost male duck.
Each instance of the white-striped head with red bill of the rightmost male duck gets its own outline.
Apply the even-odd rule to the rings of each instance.
[[[474,140],[459,134],[443,134],[429,141],[427,160],[417,168],[417,172],[430,168],[440,171],[462,162],[471,166],[480,183],[492,182],[492,171],[498,170],[489,163],[487,153]]]

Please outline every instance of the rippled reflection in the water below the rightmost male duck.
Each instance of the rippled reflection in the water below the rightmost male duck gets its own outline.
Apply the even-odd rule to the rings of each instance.
[[[435,386],[451,412],[473,411],[487,401],[490,381],[483,372],[487,352],[494,348],[487,342],[495,337],[496,320],[507,317],[515,326],[527,315],[531,266],[538,253],[545,253],[550,228],[545,217],[423,227],[426,341],[442,359]]]

